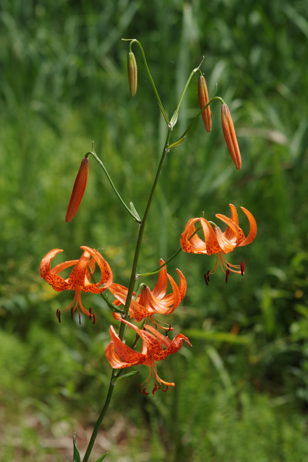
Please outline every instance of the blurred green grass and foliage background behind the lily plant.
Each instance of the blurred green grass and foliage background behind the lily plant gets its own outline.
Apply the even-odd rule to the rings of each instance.
[[[211,134],[200,119],[166,159],[139,271],[173,255],[189,218],[229,215],[230,202],[254,214],[258,234],[230,254],[246,271],[227,285],[217,271],[205,286],[215,257],[181,253],[169,265],[188,283],[169,319],[193,348],[157,365],[176,383],[166,394],[139,395],[138,375],[119,382],[97,457],[106,449],[119,462],[307,460],[307,0],[1,0],[0,461],[72,461],[72,433],[82,453],[108,389],[110,310],[85,294],[96,324],[69,315],[59,324],[55,312],[73,292],[51,290],[38,267],[50,249],[64,249],[58,263],[88,245],[128,284],[138,225],[92,158],[79,212],[64,221],[92,140],[124,200],[140,216],[145,209],[166,127],[137,47],[130,97],[122,37],[142,43],[169,116],[204,55],[209,94],[217,83],[242,153],[238,172],[212,104]],[[198,107],[195,76],[171,140]],[[247,234],[241,211],[239,219]]]

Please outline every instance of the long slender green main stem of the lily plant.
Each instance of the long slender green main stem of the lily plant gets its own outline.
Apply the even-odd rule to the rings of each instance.
[[[162,168],[163,168],[163,163],[164,163],[164,160],[165,160],[167,152],[168,152],[167,148],[168,148],[170,136],[171,136],[171,128],[169,128],[169,131],[168,131],[167,140],[166,140],[165,146],[163,148],[163,154],[162,154],[162,157],[160,159],[160,163],[158,165],[157,174],[155,176],[155,180],[154,180],[154,183],[153,183],[153,186],[152,186],[152,189],[151,189],[151,194],[150,194],[150,197],[149,197],[146,209],[145,209],[145,214],[144,214],[142,222],[140,224],[139,235],[138,235],[138,240],[137,240],[137,245],[136,245],[136,250],[135,250],[135,256],[134,256],[134,260],[133,260],[132,274],[131,274],[131,279],[129,281],[127,299],[126,299],[126,304],[125,304],[125,308],[124,308],[124,311],[125,311],[125,314],[123,316],[124,319],[128,318],[129,307],[130,307],[130,304],[131,304],[132,295],[133,295],[133,289],[134,289],[135,282],[136,282],[137,265],[138,265],[138,259],[139,259],[139,253],[140,253],[140,249],[141,249],[141,244],[142,244],[143,233],[145,231],[145,223],[146,223],[146,219],[148,218],[148,214],[150,212],[151,203],[152,203],[152,200],[153,200],[153,197],[154,197],[155,189],[157,187],[159,176],[160,176]],[[120,332],[119,332],[119,337],[120,337],[121,340],[123,340],[124,332],[125,332],[125,324],[123,322],[121,322]],[[88,460],[89,460],[91,450],[93,448],[93,444],[94,444],[95,439],[97,437],[98,430],[99,430],[100,426],[102,425],[103,418],[105,417],[105,414],[106,414],[107,409],[108,409],[109,404],[110,404],[111,396],[112,396],[113,390],[115,388],[115,383],[114,383],[113,380],[117,375],[118,375],[118,369],[113,369],[112,374],[111,374],[110,385],[109,385],[109,390],[108,390],[108,393],[107,393],[106,401],[105,401],[103,410],[102,410],[99,418],[97,419],[96,426],[94,427],[90,442],[88,444],[87,450],[85,451],[85,457],[83,459],[83,462],[88,462]]]

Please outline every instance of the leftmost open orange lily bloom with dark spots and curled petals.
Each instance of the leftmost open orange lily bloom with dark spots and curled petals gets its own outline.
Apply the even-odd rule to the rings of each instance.
[[[66,306],[66,308],[62,308],[61,310],[57,310],[57,318],[59,319],[59,322],[61,322],[60,314],[61,312],[66,312],[68,310],[72,311],[72,318],[73,318],[73,312],[75,309],[77,309],[77,312],[79,314],[79,324],[80,324],[80,313],[79,313],[79,308],[80,310],[85,313],[86,316],[89,316],[91,319],[91,316],[93,316],[93,324],[96,321],[95,314],[92,313],[91,308],[87,310],[82,302],[81,302],[81,296],[80,292],[92,292],[92,293],[102,293],[104,292],[107,287],[109,287],[112,284],[113,281],[113,274],[111,271],[111,268],[107,261],[105,261],[102,257],[102,255],[96,250],[96,249],[91,249],[90,247],[87,247],[85,245],[81,246],[80,249],[84,250],[84,253],[81,255],[79,260],[69,260],[69,261],[64,261],[63,263],[60,263],[59,265],[55,266],[54,268],[50,269],[50,262],[51,260],[55,257],[60,252],[63,252],[62,249],[53,249],[48,252],[47,255],[44,256],[44,258],[41,261],[40,264],[40,274],[43,279],[45,279],[49,284],[53,287],[53,289],[57,292],[61,292],[64,290],[74,290],[75,291],[75,297],[72,303],[69,306]],[[91,258],[92,256],[92,258]],[[90,260],[91,258],[91,260]],[[87,269],[87,266],[91,268],[91,271],[93,272],[95,270],[95,262],[97,262],[99,269],[101,270],[102,276],[99,282],[97,284],[92,284],[91,283],[91,276],[90,273]],[[69,278],[63,279],[59,273],[63,271],[64,269],[70,267],[70,266],[75,266],[72,270],[72,273],[70,274]],[[103,287],[102,284],[104,285]],[[79,306],[79,308],[78,308]]]

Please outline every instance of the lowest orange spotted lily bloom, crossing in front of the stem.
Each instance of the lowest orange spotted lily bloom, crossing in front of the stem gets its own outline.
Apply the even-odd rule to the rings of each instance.
[[[157,375],[155,361],[165,359],[169,354],[173,354],[179,351],[183,343],[182,340],[185,340],[189,346],[192,346],[187,337],[185,337],[183,334],[177,334],[173,340],[170,340],[168,337],[165,337],[164,335],[157,332],[157,330],[152,326],[145,326],[143,330],[140,330],[137,326],[131,324],[131,322],[125,321],[124,319],[121,319],[121,321],[125,322],[127,326],[131,327],[141,337],[141,353],[138,353],[129,346],[125,345],[125,343],[123,343],[116,334],[113,326],[110,326],[109,332],[111,341],[109,345],[106,346],[105,356],[111,367],[113,369],[122,369],[124,367],[139,364],[145,364],[146,366],[149,366],[151,368],[149,377],[139,385],[139,392],[141,393],[140,388],[144,383],[146,383],[143,389],[143,393],[145,395],[149,394],[145,390],[150,383],[152,374],[154,374],[154,388],[152,391],[153,395],[157,389],[161,388],[162,383],[167,387],[163,391],[167,391],[169,386],[174,387],[174,382],[165,382]],[[150,332],[146,332],[145,329]],[[166,348],[163,349],[163,346]],[[157,382],[159,383],[159,387],[157,387]]]

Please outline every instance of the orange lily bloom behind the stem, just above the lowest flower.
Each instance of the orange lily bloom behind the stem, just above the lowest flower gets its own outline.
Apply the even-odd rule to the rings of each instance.
[[[163,264],[164,261],[161,258],[159,266]],[[179,269],[176,271],[180,276],[180,286],[177,286],[175,280],[167,274],[167,269],[164,266],[159,272],[157,284],[152,292],[149,287],[143,287],[141,294],[137,297],[136,301],[133,300],[135,295],[135,292],[133,292],[132,301],[129,307],[130,317],[133,317],[136,322],[148,317],[151,319],[152,323],[155,322],[163,330],[173,330],[169,324],[166,324],[168,327],[161,326],[154,315],[156,313],[169,315],[176,307],[179,306],[185,297],[187,289],[186,279]],[[173,292],[166,295],[168,279]],[[113,302],[115,305],[125,305],[128,292],[127,287],[121,286],[120,284],[111,284],[111,286],[109,286],[109,291],[116,298]],[[118,321],[121,321],[122,319],[121,315],[115,311],[113,312],[113,316]]]

